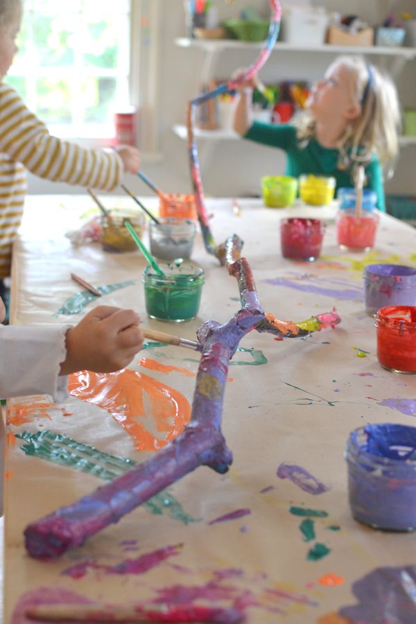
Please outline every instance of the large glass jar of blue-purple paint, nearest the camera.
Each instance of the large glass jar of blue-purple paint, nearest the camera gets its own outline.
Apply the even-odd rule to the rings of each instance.
[[[345,449],[349,506],[373,528],[416,528],[416,427],[374,424],[350,433]]]

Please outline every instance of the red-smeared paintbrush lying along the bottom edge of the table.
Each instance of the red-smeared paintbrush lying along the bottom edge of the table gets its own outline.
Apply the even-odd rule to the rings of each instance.
[[[46,622],[241,622],[243,616],[237,609],[198,607],[196,605],[155,605],[125,607],[123,605],[55,604],[26,607],[25,616]]]

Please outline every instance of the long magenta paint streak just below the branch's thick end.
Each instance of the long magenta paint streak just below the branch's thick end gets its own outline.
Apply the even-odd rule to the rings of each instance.
[[[96,564],[95,562],[85,561],[75,564],[64,570],[63,575],[70,576],[73,579],[83,578],[88,570],[101,570],[106,574],[134,574],[140,575],[159,566],[162,562],[170,557],[178,555],[182,550],[183,544],[175,544],[174,546],[165,546],[157,551],[146,553],[137,557],[137,559],[126,559],[114,566],[106,566],[104,564]]]

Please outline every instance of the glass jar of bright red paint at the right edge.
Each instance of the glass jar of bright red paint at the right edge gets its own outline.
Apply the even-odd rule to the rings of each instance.
[[[416,307],[386,306],[376,313],[377,358],[394,372],[416,373]]]

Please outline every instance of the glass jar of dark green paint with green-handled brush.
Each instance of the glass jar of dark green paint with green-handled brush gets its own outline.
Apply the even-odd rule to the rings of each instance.
[[[152,267],[143,272],[144,298],[150,318],[182,322],[195,318],[200,306],[202,286],[205,281],[202,268],[175,263],[162,264],[164,277]]]

